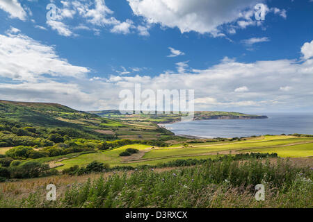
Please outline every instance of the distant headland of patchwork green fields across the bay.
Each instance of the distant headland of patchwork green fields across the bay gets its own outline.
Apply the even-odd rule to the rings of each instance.
[[[152,121],[155,123],[170,123],[180,121],[186,114],[120,114],[119,110],[90,111],[88,113],[97,114],[100,117],[109,119],[119,119],[122,121]],[[266,116],[243,114],[240,112],[221,112],[221,111],[196,111],[193,120],[202,119],[267,119]]]

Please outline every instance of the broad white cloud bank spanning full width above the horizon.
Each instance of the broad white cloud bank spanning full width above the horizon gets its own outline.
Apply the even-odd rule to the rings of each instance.
[[[2,99],[51,101],[79,110],[116,109],[122,101],[120,90],[134,92],[134,85],[141,83],[142,90],[154,92],[194,89],[195,110],[268,112],[313,108],[310,58],[256,62],[225,58],[207,69],[191,69],[188,62],[177,62],[177,71],[156,76],[128,76],[128,70],[121,69],[109,77],[86,75],[89,69],[59,58],[51,46],[19,32],[0,35],[0,77],[8,82],[0,84]]]

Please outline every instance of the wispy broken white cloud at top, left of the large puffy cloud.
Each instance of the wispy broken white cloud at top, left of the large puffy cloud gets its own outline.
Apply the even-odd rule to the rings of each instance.
[[[111,33],[127,35],[129,33],[138,33],[138,35],[148,36],[150,25],[136,26],[131,19],[122,22],[116,19],[114,12],[106,6],[104,0],[74,0],[61,1],[62,8],[56,8],[56,16],[53,21],[47,24],[56,30],[59,35],[71,36],[73,31],[90,30],[95,35],[99,35],[99,28],[109,28]],[[82,21],[78,26],[67,25],[70,19],[78,18]]]

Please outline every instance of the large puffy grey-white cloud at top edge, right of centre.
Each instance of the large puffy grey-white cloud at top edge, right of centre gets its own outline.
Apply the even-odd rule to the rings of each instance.
[[[211,33],[214,37],[224,36],[223,25],[232,33],[234,28],[246,28],[259,25],[254,19],[255,6],[265,0],[127,0],[135,15],[144,17],[150,24],[161,24],[170,28],[179,28],[182,33],[195,31],[201,34]],[[281,16],[287,16],[285,10],[268,9]]]

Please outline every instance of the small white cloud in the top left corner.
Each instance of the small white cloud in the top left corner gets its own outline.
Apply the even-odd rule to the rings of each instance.
[[[26,20],[27,13],[17,0],[1,0],[0,8],[8,12],[11,18]]]

